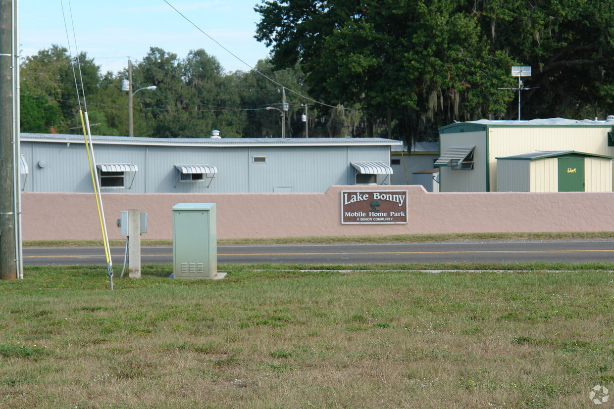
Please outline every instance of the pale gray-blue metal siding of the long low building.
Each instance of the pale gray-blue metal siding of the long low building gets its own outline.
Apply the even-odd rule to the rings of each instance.
[[[91,192],[91,177],[83,143],[21,142],[30,173],[25,191]],[[138,172],[125,174],[126,188],[104,193],[256,193],[273,191],[324,192],[331,185],[352,184],[352,161],[390,164],[390,147],[382,146],[230,146],[182,147],[95,144],[96,162],[130,163]],[[266,156],[266,163],[252,162]],[[39,161],[45,167],[38,166]],[[208,164],[218,173],[212,180],[181,182],[176,164]],[[386,175],[378,175],[378,183]],[[386,179],[386,184],[389,183]],[[211,182],[209,184],[209,182]],[[209,185],[209,186],[208,186]]]

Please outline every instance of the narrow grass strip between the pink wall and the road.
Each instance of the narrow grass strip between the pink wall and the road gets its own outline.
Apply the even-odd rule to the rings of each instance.
[[[445,240],[567,240],[612,239],[614,232],[543,232],[543,233],[447,233],[447,234],[399,234],[352,235],[324,237],[284,237],[274,239],[218,239],[219,245],[262,245],[293,243],[421,243]],[[125,246],[123,239],[109,240],[111,246]],[[173,240],[141,239],[142,246],[171,246]],[[103,247],[102,240],[25,240],[23,247]]]

